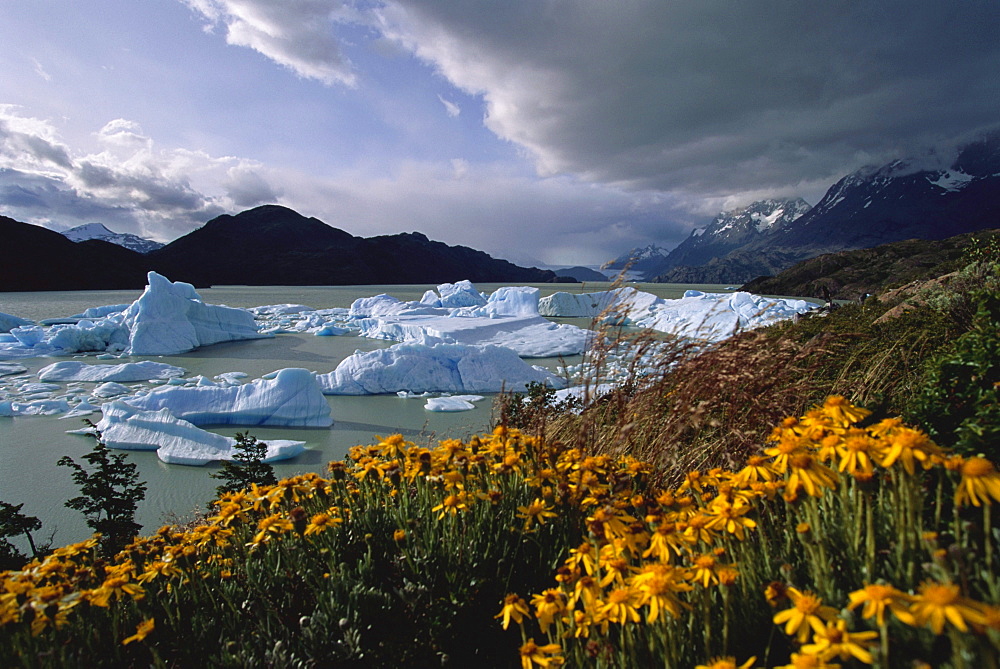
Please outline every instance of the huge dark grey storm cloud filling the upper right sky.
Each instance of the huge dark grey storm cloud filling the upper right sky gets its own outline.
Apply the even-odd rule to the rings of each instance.
[[[544,174],[724,196],[834,179],[1000,122],[1000,4],[395,0]]]

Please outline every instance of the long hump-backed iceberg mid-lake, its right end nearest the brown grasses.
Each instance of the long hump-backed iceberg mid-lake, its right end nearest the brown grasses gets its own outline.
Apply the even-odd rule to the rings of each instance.
[[[357,352],[317,377],[328,395],[410,392],[499,392],[538,382],[561,384],[555,375],[499,346],[467,346],[425,340]]]

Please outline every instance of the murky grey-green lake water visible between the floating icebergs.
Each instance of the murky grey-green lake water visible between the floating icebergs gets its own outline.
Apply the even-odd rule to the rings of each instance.
[[[476,288],[491,293],[502,285],[476,284]],[[639,290],[663,298],[677,298],[685,290],[723,292],[721,285],[688,284],[629,284]],[[536,284],[544,297],[557,291],[596,292],[607,290],[607,283]],[[433,285],[408,286],[225,286],[199,289],[207,304],[231,307],[256,307],[271,304],[304,304],[316,309],[349,307],[359,297],[388,293],[401,300],[419,300]],[[0,293],[0,312],[40,321],[82,313],[89,307],[132,302],[142,294],[130,291],[62,291],[32,293]],[[589,319],[558,319],[581,327]],[[186,377],[202,375],[212,378],[223,372],[244,372],[247,381],[286,367],[304,367],[320,373],[333,370],[341,360],[356,350],[370,351],[394,342],[367,339],[353,334],[339,337],[318,337],[312,334],[281,334],[272,339],[215,344],[176,356],[124,358],[120,362],[157,360],[187,370]],[[28,374],[65,358],[25,358],[12,360],[24,365]],[[95,356],[82,359],[89,363],[114,363]],[[560,365],[574,364],[579,358],[530,359],[531,364],[558,370]],[[0,384],[10,377],[0,377]],[[37,379],[36,379],[37,380]],[[406,399],[396,395],[362,397],[327,396],[334,424],[330,428],[261,428],[225,426],[211,428],[229,436],[247,431],[262,441],[296,439],[306,442],[306,451],[292,460],[274,464],[279,478],[304,472],[323,473],[331,460],[344,457],[351,446],[373,443],[375,435],[404,434],[418,444],[436,443],[439,439],[466,438],[488,430],[492,400],[486,396],[476,409],[456,413],[436,413],[424,409],[423,399]],[[100,414],[90,416],[95,422]],[[60,419],[59,416],[0,417],[0,500],[10,504],[24,503],[22,513],[37,516],[43,523],[35,533],[36,541],[45,542],[53,535],[54,545],[84,539],[90,530],[83,517],[66,509],[64,502],[79,494],[67,467],[56,461],[69,455],[85,464],[81,456],[93,446],[91,437],[67,434],[67,430],[84,427],[82,419]],[[125,452],[125,451],[116,451]],[[168,465],[157,458],[155,451],[129,451],[128,458],[139,469],[141,480],[148,489],[140,504],[137,521],[145,533],[156,531],[170,522],[189,520],[198,509],[204,510],[214,497],[220,483],[210,477],[218,471],[216,464],[204,467]]]

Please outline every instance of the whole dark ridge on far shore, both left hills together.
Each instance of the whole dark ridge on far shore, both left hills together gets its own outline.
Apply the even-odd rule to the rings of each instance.
[[[418,232],[355,237],[277,205],[218,216],[147,254],[0,217],[10,262],[0,291],[142,288],[155,270],[173,281],[211,285],[544,283],[548,270],[518,267]]]

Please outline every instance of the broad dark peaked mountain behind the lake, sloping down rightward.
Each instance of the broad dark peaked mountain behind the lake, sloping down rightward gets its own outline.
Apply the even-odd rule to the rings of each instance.
[[[555,274],[518,267],[419,232],[355,237],[277,205],[212,219],[147,255],[153,269],[197,286],[540,283]]]

